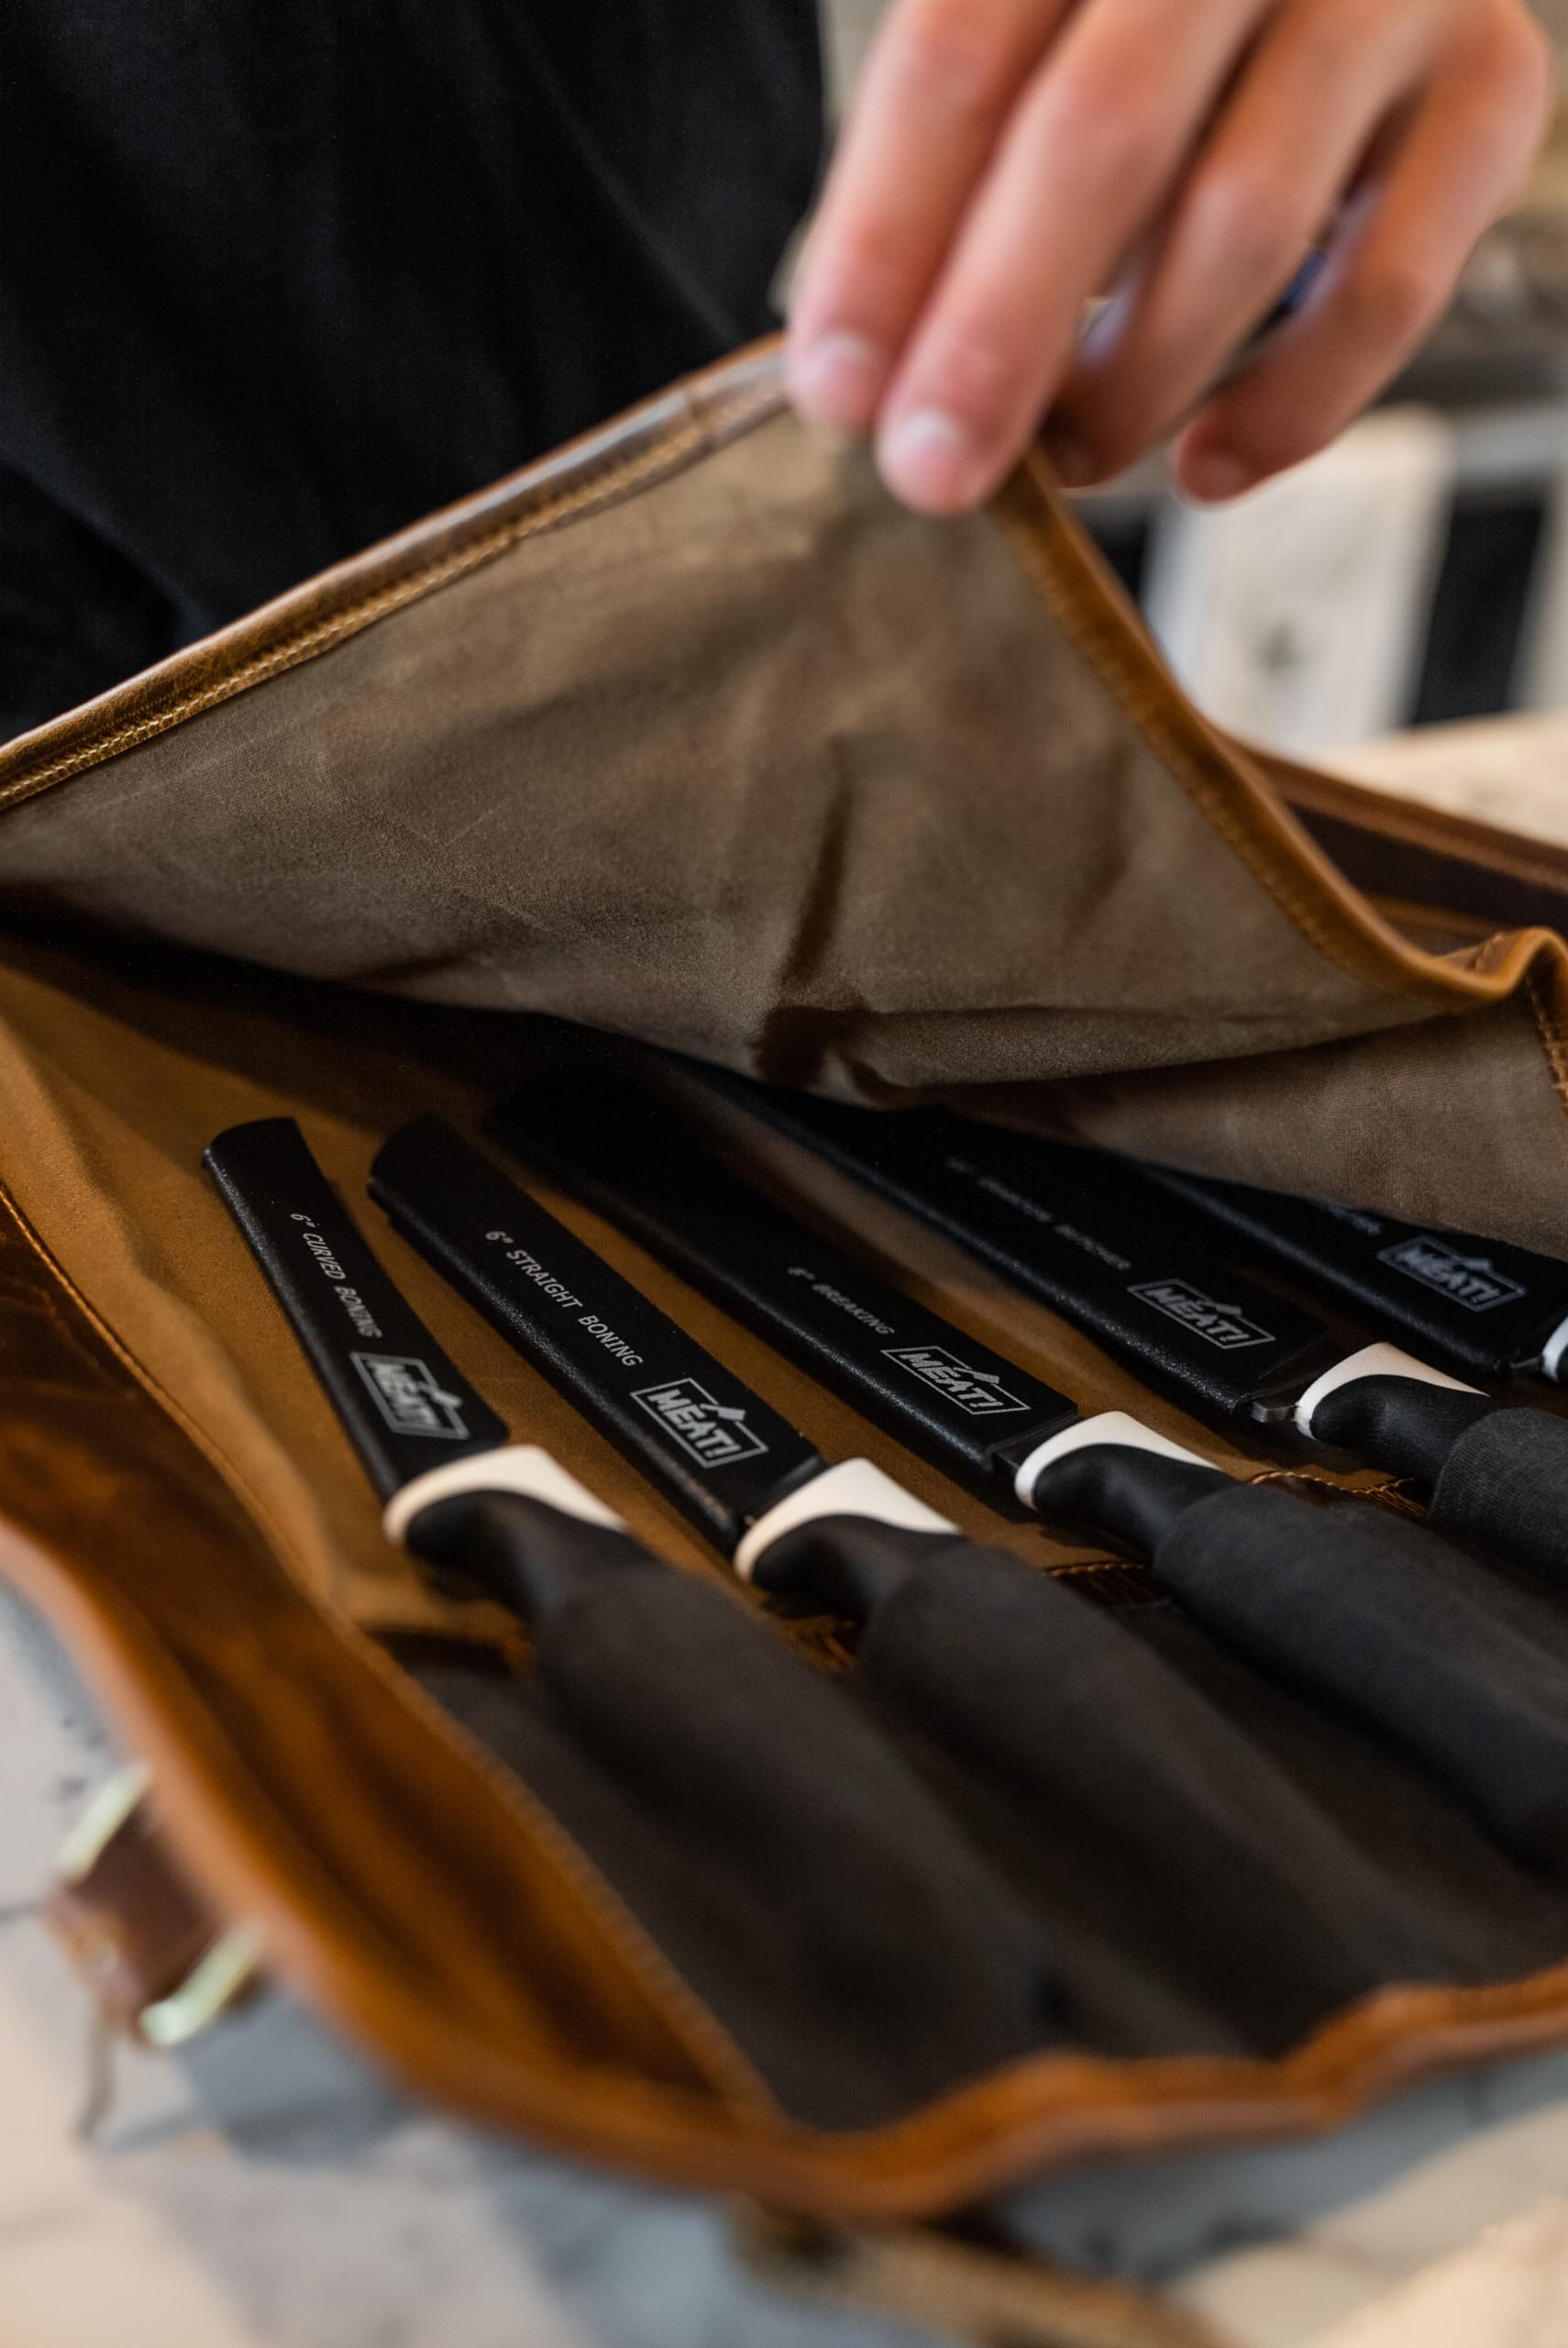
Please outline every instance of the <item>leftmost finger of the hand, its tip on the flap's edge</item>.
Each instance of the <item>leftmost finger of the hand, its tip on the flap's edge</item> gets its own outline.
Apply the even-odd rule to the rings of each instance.
[[[1023,80],[1073,0],[904,0],[878,40],[800,261],[789,387],[866,432]]]

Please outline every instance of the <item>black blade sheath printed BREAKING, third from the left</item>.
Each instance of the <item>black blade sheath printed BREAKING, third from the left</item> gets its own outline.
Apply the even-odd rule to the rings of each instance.
[[[878,1280],[737,1181],[636,1080],[554,1078],[491,1129],[866,1418],[1002,1512],[1014,1475],[1075,1404]]]

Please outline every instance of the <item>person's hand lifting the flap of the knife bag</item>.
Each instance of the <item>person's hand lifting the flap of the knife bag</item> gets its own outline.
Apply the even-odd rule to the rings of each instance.
[[[1523,190],[1549,82],[1523,0],[897,0],[791,303],[796,404],[873,430],[922,512],[986,498],[1047,411],[1061,477],[1096,481],[1324,244],[1181,437],[1181,486],[1239,495],[1427,333]]]

